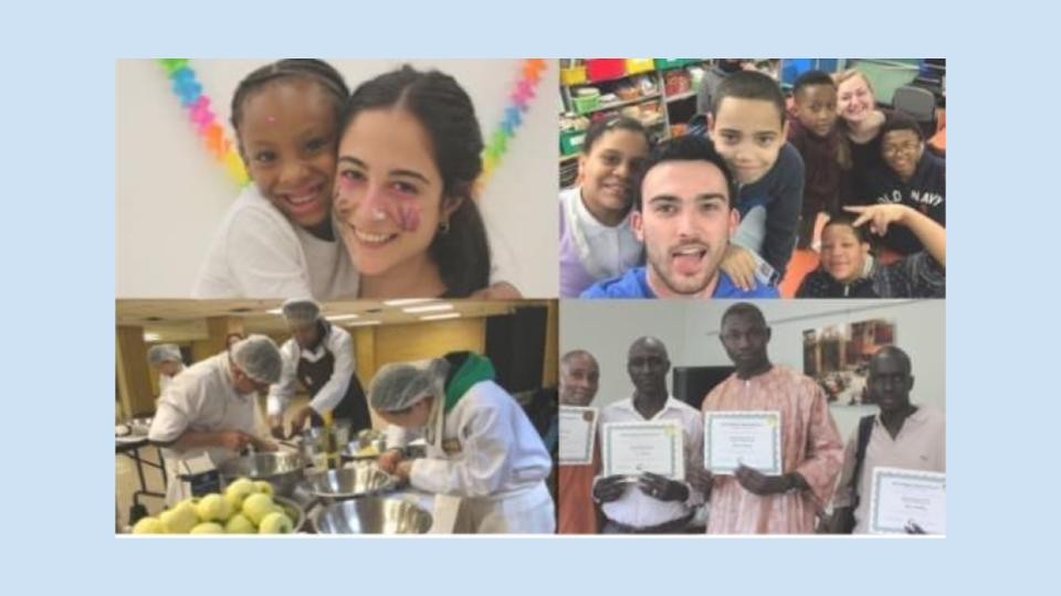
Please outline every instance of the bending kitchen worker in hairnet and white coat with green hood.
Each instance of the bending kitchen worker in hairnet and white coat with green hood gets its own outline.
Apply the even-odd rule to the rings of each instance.
[[[369,398],[392,425],[388,447],[405,446],[412,434],[428,443],[427,458],[402,460],[390,449],[379,467],[413,488],[448,496],[454,533],[555,531],[545,483],[549,454],[519,404],[494,382],[490,360],[453,352],[388,364],[372,380]]]

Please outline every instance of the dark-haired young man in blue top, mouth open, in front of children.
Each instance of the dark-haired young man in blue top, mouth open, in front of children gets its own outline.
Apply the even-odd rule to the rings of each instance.
[[[776,298],[777,288],[743,290],[719,264],[736,232],[734,182],[703,137],[658,146],[634,183],[630,224],[648,264],[598,281],[581,298]]]

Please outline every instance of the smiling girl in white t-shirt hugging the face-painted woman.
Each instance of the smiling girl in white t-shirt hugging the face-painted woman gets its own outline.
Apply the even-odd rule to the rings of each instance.
[[[330,216],[348,95],[318,60],[282,60],[240,82],[231,121],[252,183],[216,234],[195,297],[356,296],[357,273]]]

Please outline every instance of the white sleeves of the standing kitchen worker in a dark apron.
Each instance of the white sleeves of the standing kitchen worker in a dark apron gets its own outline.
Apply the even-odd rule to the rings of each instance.
[[[294,338],[285,341],[280,348],[284,366],[280,373],[280,381],[269,387],[266,411],[270,416],[282,414],[294,397],[295,390],[298,387],[298,362],[301,360],[316,362],[328,352],[332,352],[335,361],[332,379],[313,396],[309,407],[317,414],[332,412],[346,396],[346,390],[349,389],[350,379],[354,376],[354,341],[345,329],[330,323],[327,328],[316,350],[303,350]]]

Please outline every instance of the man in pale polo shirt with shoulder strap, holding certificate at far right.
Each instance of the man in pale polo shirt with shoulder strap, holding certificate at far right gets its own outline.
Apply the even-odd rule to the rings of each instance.
[[[938,409],[910,403],[911,372],[910,356],[892,345],[870,359],[866,389],[881,413],[848,440],[833,533],[944,531],[946,425]]]

